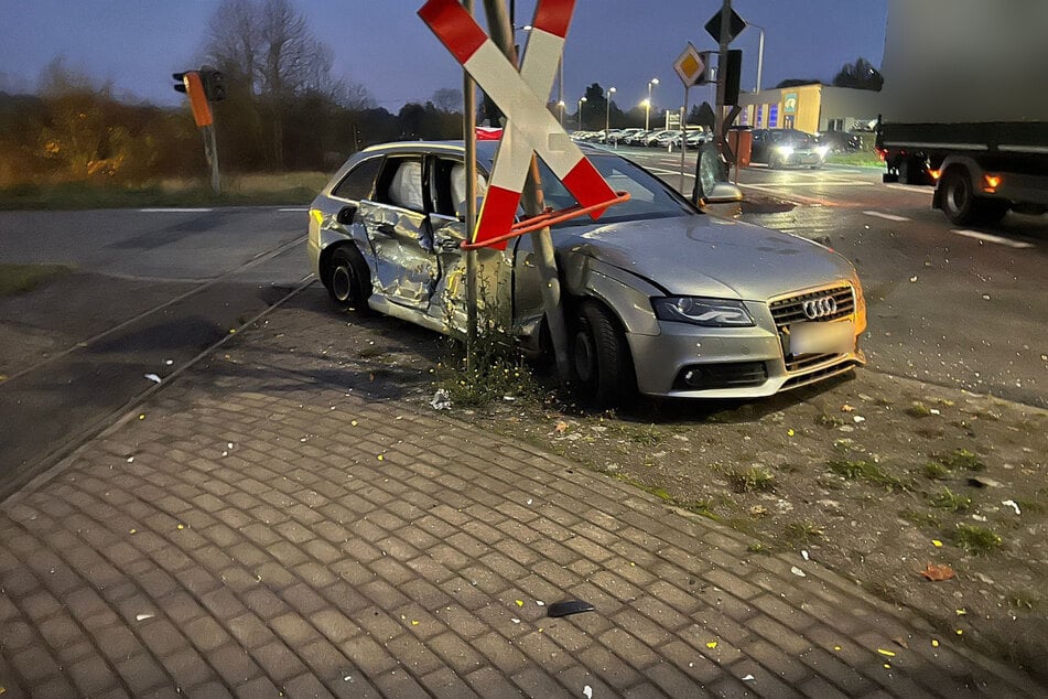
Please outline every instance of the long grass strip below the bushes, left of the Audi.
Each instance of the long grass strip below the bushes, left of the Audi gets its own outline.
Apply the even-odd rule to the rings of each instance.
[[[224,176],[223,192],[218,195],[212,192],[210,183],[203,179],[165,180],[137,186],[87,182],[20,184],[0,190],[0,208],[307,205],[323,189],[328,178],[329,175],[323,172]]]

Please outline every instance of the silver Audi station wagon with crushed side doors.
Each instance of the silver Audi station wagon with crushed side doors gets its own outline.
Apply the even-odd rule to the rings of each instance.
[[[495,157],[477,143],[478,189]],[[627,202],[552,229],[572,384],[594,406],[655,397],[757,398],[865,363],[854,267],[804,238],[714,218],[639,165],[583,147]],[[540,163],[548,206],[574,197]],[[310,208],[313,272],[342,307],[445,334],[466,327],[462,142],[353,155]],[[523,214],[519,214],[523,218]],[[549,352],[531,238],[477,255],[482,316],[528,355]]]

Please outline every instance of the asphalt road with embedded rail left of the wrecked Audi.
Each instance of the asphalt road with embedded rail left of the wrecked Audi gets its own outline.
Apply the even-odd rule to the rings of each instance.
[[[0,260],[75,271],[0,299],[0,496],[309,273],[305,209],[0,213]]]

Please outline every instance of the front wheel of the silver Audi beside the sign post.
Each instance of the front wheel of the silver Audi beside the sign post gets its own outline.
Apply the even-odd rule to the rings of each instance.
[[[601,303],[583,301],[575,312],[571,369],[574,392],[588,407],[622,407],[637,391],[626,335]]]

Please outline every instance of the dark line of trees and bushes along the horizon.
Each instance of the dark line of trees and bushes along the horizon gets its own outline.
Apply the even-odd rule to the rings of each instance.
[[[208,26],[199,60],[225,76],[226,98],[212,105],[224,172],[329,171],[372,143],[462,138],[461,90],[439,89],[397,114],[378,107],[363,85],[332,75],[333,52],[292,0],[224,0]],[[860,77],[867,67],[854,66]],[[581,114],[550,109],[569,128],[644,126],[642,108],[608,105],[598,84],[586,97]],[[478,104],[478,122],[497,118]],[[709,105],[695,106],[689,121],[711,115]],[[652,126],[661,119],[651,114]],[[0,92],[0,187],[142,185],[205,172],[187,101],[158,107],[121,98],[61,56],[41,72],[35,95]]]

